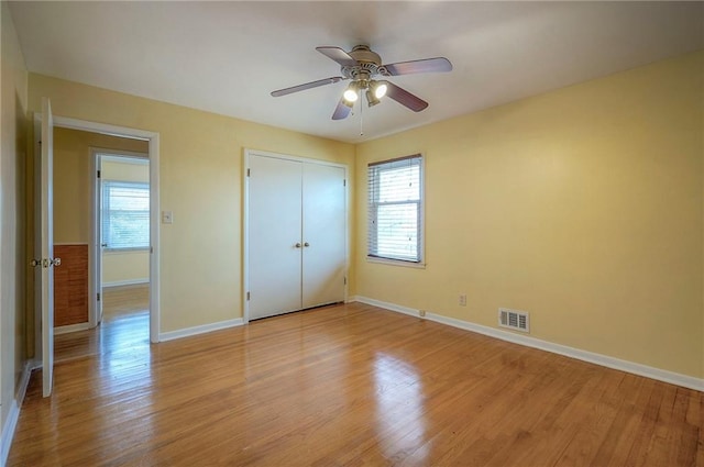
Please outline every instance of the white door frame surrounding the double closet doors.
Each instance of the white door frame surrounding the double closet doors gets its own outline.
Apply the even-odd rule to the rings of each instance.
[[[345,229],[344,229],[344,301],[348,301],[349,288],[349,270],[350,270],[350,171],[346,164],[333,163],[330,160],[312,159],[308,157],[293,156],[288,154],[272,153],[267,151],[244,148],[244,157],[242,158],[242,190],[243,190],[243,220],[242,220],[242,320],[244,324],[250,322],[250,301],[248,291],[250,290],[250,157],[263,156],[274,157],[285,160],[295,160],[306,164],[317,164],[322,166],[339,167],[344,170],[344,211],[345,211]]]

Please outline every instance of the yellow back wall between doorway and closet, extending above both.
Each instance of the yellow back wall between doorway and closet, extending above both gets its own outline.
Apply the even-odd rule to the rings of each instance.
[[[160,133],[161,332],[242,316],[244,148],[348,164],[354,146],[30,74],[31,110]]]

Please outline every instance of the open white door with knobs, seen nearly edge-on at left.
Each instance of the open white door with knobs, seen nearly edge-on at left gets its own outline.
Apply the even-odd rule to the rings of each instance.
[[[42,375],[43,394],[48,397],[52,393],[54,379],[54,266],[61,265],[61,258],[54,259],[54,208],[53,201],[53,147],[54,147],[54,122],[52,120],[52,105],[47,98],[42,98],[42,154],[38,167],[38,177],[35,182],[40,184],[37,212],[40,213],[40,225],[36,229],[37,253],[40,253],[41,265],[36,275],[42,289]],[[41,249],[41,252],[40,252]],[[37,256],[35,256],[37,257]]]

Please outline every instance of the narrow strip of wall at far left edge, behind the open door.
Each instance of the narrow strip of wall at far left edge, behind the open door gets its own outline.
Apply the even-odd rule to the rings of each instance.
[[[7,2],[0,2],[0,431],[14,407],[26,351],[25,173],[28,73]]]

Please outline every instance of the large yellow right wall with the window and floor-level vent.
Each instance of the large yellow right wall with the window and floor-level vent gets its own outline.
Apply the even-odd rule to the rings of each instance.
[[[703,78],[700,52],[359,145],[356,293],[704,377]],[[418,152],[427,267],[367,263],[366,165]]]

